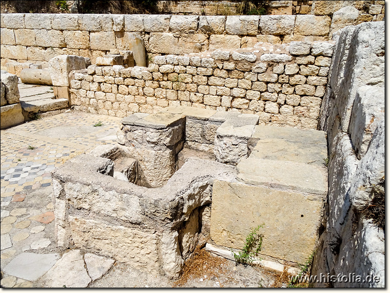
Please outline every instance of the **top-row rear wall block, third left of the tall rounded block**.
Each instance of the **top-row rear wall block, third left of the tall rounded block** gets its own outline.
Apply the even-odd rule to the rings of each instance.
[[[229,35],[257,35],[259,17],[252,15],[228,16],[225,30]]]

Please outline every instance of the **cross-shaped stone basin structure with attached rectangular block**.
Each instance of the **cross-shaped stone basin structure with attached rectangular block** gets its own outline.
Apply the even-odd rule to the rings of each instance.
[[[266,222],[261,265],[303,263],[327,192],[325,133],[257,124],[185,106],[124,118],[116,145],[53,172],[59,247],[175,279],[197,245],[232,258]]]

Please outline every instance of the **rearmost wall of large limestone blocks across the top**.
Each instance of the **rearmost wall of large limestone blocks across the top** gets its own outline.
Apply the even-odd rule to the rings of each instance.
[[[329,2],[351,2],[360,9],[354,3],[362,1]],[[312,7],[318,5],[313,3]],[[374,17],[355,7],[332,5],[335,10],[320,6],[322,10],[318,8],[314,14],[296,16],[1,14],[1,66],[29,62],[45,68],[50,59],[61,54],[90,58],[95,63],[97,57],[113,50],[128,50],[131,33],[142,37],[150,61],[155,55],[246,48],[256,42],[328,41],[334,31],[346,25],[384,17],[382,4],[372,4],[370,11],[380,13],[372,14]]]

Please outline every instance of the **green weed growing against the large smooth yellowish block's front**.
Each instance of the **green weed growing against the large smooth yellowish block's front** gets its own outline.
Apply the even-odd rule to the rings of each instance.
[[[263,243],[263,235],[258,234],[257,231],[263,227],[264,224],[251,228],[251,232],[245,239],[245,245],[238,254],[233,252],[234,259],[237,263],[248,264],[253,262],[253,257],[261,251],[261,244]]]

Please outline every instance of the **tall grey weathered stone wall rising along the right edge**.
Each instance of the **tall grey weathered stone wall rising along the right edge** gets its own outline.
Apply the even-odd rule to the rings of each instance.
[[[372,223],[380,213],[369,211],[385,208],[385,23],[350,26],[335,37],[320,119],[328,134],[329,190],[312,274],[378,279],[313,286],[384,287],[385,234]]]

